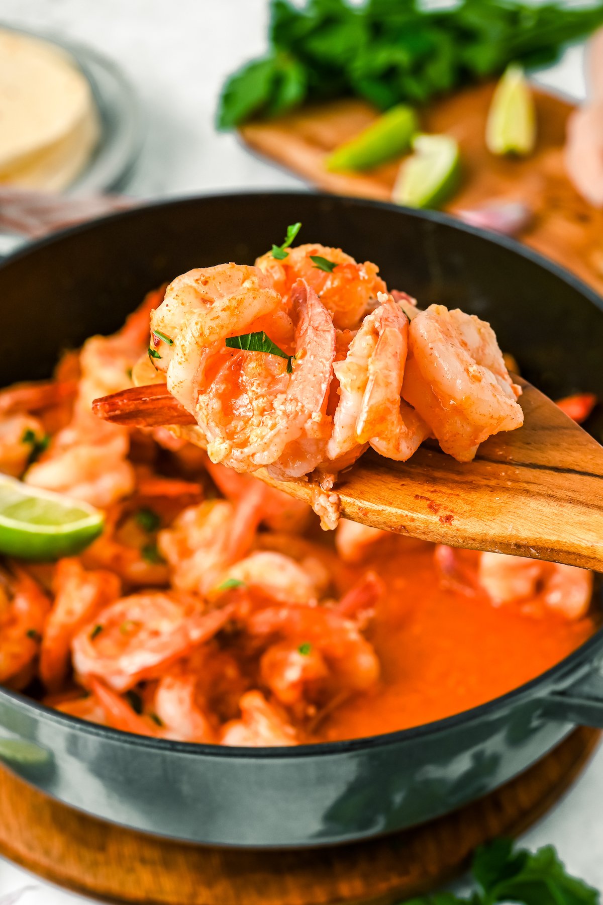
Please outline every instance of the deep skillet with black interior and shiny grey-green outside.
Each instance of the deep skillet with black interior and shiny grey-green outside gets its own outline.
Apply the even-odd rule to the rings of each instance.
[[[552,398],[603,396],[603,301],[567,271],[440,214],[309,194],[152,205],[14,255],[0,267],[0,386],[48,376],[61,349],[118,329],[146,291],[178,273],[252,262],[297,220],[300,241],[378,262],[388,284],[422,306],[438,301],[491,321],[523,376]],[[575,723],[603,727],[602,653],[599,630],[538,679],[456,717],[283,749],[141,738],[0,690],[0,757],[61,801],[149,833],[259,847],[340,843],[452,811],[529,767]]]

